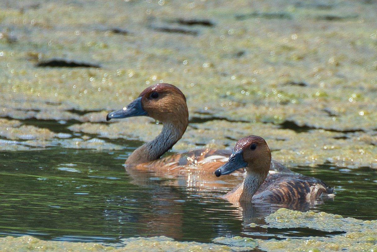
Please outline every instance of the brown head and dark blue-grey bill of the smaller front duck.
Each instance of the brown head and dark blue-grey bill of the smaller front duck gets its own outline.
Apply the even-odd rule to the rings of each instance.
[[[237,141],[227,163],[216,171],[216,177],[230,174],[240,168],[264,174],[268,173],[271,163],[271,151],[262,137],[251,135]],[[267,175],[266,173],[266,175]]]

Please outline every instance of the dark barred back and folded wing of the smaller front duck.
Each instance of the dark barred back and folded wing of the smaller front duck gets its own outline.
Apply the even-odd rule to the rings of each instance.
[[[313,202],[323,195],[333,194],[334,188],[322,180],[294,174],[270,174],[253,196],[253,201],[283,203]]]

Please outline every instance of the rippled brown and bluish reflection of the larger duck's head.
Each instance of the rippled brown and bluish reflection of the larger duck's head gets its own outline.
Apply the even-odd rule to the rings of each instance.
[[[128,233],[148,237],[164,235],[181,240],[182,206],[176,204],[175,192],[162,187],[150,189],[143,198],[107,200],[105,220],[118,226],[120,237]],[[127,230],[123,230],[125,228]]]

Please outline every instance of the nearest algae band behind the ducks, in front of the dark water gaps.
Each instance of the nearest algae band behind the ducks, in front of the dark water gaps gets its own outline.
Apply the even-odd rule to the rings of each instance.
[[[145,125],[145,128],[142,125]],[[161,125],[155,124],[155,121],[149,118],[133,118],[112,124],[74,124],[70,126],[70,129],[110,139],[126,138],[146,142],[158,134]],[[375,168],[377,165],[374,154],[376,151],[374,144],[377,140],[373,132],[370,134],[348,133],[345,137],[341,132],[328,130],[313,129],[297,133],[291,129],[282,129],[275,124],[227,120],[190,123],[182,139],[173,147],[173,151],[182,152],[203,147],[231,149],[239,138],[251,134],[265,136],[273,151],[273,158],[288,165],[316,166],[328,162],[350,168],[360,166]],[[308,144],[306,139],[310,139],[311,143]]]

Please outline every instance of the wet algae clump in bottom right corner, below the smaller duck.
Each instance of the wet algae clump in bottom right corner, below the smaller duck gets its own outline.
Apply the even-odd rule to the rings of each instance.
[[[267,251],[376,251],[377,220],[363,221],[343,218],[325,212],[299,212],[279,209],[265,218],[267,229],[299,230],[307,228],[313,236],[290,237],[285,240],[258,240]],[[326,231],[328,235],[323,235]],[[316,236],[316,233],[322,234]]]

